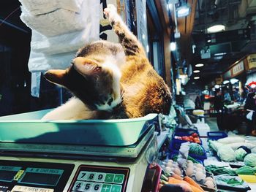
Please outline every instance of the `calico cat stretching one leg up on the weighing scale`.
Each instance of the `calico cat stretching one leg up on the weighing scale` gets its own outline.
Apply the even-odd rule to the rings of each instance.
[[[139,118],[148,113],[168,115],[170,89],[148,61],[145,50],[108,4],[106,18],[118,35],[119,44],[92,42],[78,50],[66,70],[45,73],[50,82],[74,94],[43,120]]]

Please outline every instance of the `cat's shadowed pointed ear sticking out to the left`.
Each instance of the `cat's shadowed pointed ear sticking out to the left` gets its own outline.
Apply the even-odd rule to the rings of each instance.
[[[50,69],[48,72],[45,72],[44,76],[45,76],[45,79],[50,82],[65,86],[66,74],[67,74],[67,70]]]

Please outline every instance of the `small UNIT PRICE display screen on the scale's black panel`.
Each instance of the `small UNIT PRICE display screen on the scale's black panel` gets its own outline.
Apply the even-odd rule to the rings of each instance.
[[[63,169],[40,169],[28,167],[18,183],[56,186]]]

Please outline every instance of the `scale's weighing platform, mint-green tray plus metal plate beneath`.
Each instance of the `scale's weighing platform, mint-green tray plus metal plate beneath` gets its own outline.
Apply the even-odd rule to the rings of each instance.
[[[154,133],[154,118],[39,120],[49,110],[0,117],[3,153],[136,158]]]

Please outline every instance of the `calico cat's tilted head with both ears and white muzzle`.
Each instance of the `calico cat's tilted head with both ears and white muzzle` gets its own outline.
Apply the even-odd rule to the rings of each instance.
[[[45,78],[69,89],[91,110],[112,110],[121,103],[121,72],[108,62],[77,57],[68,69],[51,69]]]

